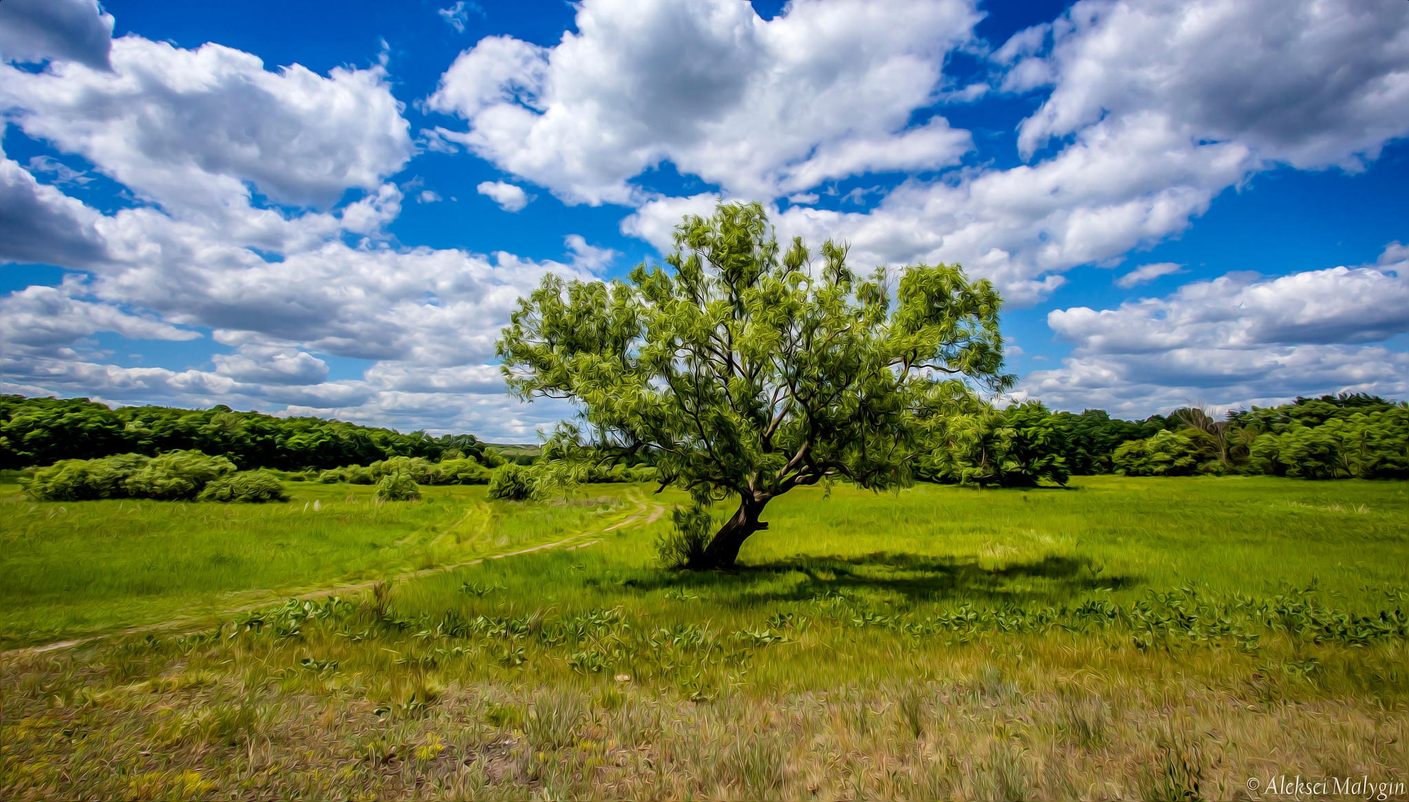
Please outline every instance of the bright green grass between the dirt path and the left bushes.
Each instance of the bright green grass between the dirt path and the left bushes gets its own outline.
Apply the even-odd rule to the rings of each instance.
[[[423,488],[417,503],[378,503],[371,486],[286,486],[286,503],[221,505],[39,503],[0,485],[0,647],[462,562],[626,509],[616,488],[595,492],[600,503],[530,507],[490,502],[483,486]]]

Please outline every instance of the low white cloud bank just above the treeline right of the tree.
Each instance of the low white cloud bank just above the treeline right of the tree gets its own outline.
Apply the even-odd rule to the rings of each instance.
[[[1409,262],[1394,247],[1386,255],[1399,261],[1229,275],[1116,309],[1054,310],[1048,326],[1072,355],[1029,374],[1019,392],[1126,414],[1341,390],[1403,397],[1409,354],[1379,343],[1409,331]]]

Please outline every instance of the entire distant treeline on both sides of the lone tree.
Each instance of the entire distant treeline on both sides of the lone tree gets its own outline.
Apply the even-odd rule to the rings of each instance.
[[[974,399],[964,414],[940,426],[944,445],[919,471],[931,482],[1064,485],[1091,474],[1409,478],[1409,406],[1364,393],[1298,397],[1223,417],[1185,407],[1144,420],[1102,410],[1054,413],[1036,402],[996,409]],[[87,399],[0,396],[0,468],[185,450],[225,457],[241,471],[323,471],[307,478],[352,483],[372,483],[389,472],[430,485],[485,483],[490,469],[506,461],[469,434],[402,434],[225,406],[108,409]],[[509,461],[526,464],[533,455]],[[644,455],[638,464],[603,467],[582,481],[645,481],[650,474]]]

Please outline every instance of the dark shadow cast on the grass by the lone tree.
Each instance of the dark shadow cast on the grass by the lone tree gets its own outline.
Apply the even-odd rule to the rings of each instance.
[[[800,602],[827,593],[899,595],[907,602],[1060,603],[1092,591],[1116,591],[1138,576],[1107,575],[1088,557],[1047,555],[985,568],[975,558],[881,551],[796,557],[734,571],[654,571],[621,585],[638,591],[702,591],[720,603]]]

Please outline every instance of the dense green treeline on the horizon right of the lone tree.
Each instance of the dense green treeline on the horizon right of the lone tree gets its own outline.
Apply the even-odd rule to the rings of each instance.
[[[1143,421],[1102,410],[1053,413],[1036,402],[976,405],[945,423],[944,440],[921,468],[929,481],[1036,486],[1089,474],[1409,478],[1409,406],[1364,393],[1298,397],[1223,417],[1185,407]]]

